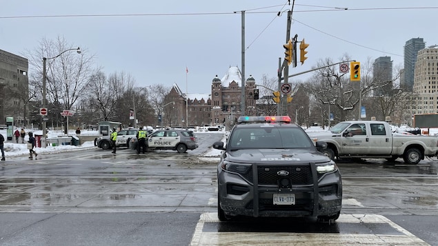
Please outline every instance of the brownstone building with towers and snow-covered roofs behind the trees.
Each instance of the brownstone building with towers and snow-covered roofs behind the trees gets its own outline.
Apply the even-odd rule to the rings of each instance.
[[[241,113],[241,72],[237,67],[230,67],[219,79],[212,79],[211,93],[195,94],[183,92],[174,84],[164,99],[162,121],[168,126],[201,126],[234,124]],[[254,100],[255,79],[246,79],[246,113],[255,115]],[[174,102],[174,103],[173,103]],[[186,114],[187,112],[187,114]],[[188,117],[186,116],[188,115]]]

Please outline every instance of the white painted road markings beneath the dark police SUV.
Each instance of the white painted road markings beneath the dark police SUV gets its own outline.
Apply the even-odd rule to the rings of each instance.
[[[387,223],[401,235],[294,232],[203,232],[204,223],[219,223],[217,213],[203,213],[190,245],[429,245],[385,216],[341,214],[336,223]]]

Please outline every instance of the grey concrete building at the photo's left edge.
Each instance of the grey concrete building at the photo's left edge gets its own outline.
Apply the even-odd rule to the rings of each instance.
[[[14,117],[14,125],[26,120],[24,101],[28,98],[28,59],[0,50],[0,124]]]

